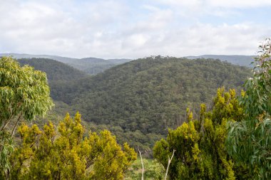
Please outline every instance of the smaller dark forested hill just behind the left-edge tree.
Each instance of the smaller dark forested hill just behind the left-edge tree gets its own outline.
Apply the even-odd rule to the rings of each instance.
[[[44,71],[49,82],[53,80],[78,80],[87,76],[81,70],[48,58],[23,58],[18,61],[21,65],[27,64],[33,66],[36,70]]]

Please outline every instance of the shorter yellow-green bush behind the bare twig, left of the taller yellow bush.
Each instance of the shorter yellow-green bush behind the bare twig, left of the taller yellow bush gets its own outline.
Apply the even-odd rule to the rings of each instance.
[[[170,179],[189,179],[192,178],[193,171],[199,170],[197,164],[200,152],[199,139],[200,134],[195,129],[194,123],[190,121],[184,122],[175,130],[169,129],[167,139],[161,139],[155,144],[153,156],[164,168],[168,166],[168,156],[172,154],[173,149],[178,148],[168,171]]]

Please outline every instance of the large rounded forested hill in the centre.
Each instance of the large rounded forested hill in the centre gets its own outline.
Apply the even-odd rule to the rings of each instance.
[[[168,127],[182,124],[186,107],[211,102],[221,86],[240,89],[249,75],[247,68],[220,60],[157,56],[58,86],[55,98],[84,120],[108,125],[121,141],[151,146]]]

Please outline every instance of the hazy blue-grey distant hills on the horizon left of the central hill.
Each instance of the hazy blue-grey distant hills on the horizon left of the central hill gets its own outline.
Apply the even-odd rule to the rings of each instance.
[[[48,58],[58,60],[59,62],[71,65],[73,68],[83,70],[83,72],[95,75],[101,73],[104,70],[131,61],[131,59],[110,59],[104,60],[101,58],[66,58],[58,55],[31,55],[31,54],[19,54],[19,53],[0,53],[0,56],[13,56],[16,59],[20,58]]]

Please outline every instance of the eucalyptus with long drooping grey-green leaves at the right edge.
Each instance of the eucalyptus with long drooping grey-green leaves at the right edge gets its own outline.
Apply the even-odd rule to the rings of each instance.
[[[240,97],[245,117],[230,124],[227,149],[242,164],[250,166],[253,179],[271,179],[271,41],[260,46],[253,77],[245,82]]]

